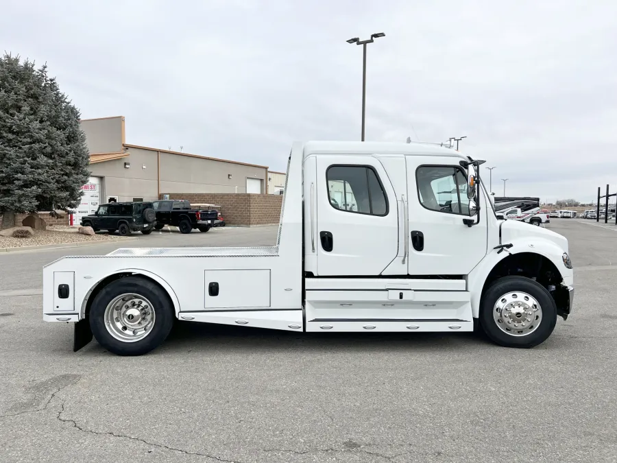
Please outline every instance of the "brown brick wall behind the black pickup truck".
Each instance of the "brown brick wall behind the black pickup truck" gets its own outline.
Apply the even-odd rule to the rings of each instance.
[[[228,225],[256,226],[278,224],[282,195],[250,193],[166,193],[172,200],[191,204],[220,204]],[[160,195],[160,199],[163,195]]]

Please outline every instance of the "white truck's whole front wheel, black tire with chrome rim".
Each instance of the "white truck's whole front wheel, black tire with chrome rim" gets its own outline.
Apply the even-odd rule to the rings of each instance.
[[[524,276],[505,276],[483,294],[480,324],[500,346],[535,347],[553,333],[557,305],[540,283]]]

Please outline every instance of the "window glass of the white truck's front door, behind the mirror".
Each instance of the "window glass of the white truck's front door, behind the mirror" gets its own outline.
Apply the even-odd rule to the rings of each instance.
[[[420,204],[431,211],[469,215],[467,176],[454,166],[421,166],[415,174]]]

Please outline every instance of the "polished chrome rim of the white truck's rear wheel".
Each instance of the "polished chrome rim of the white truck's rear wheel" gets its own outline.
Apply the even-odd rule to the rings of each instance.
[[[154,307],[139,294],[121,294],[105,309],[107,331],[122,342],[136,342],[149,335],[154,327]]]

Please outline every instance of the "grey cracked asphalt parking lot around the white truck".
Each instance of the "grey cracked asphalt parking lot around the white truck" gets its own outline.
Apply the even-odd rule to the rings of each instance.
[[[531,350],[179,322],[143,357],[73,353],[72,327],[42,321],[41,267],[117,244],[0,255],[0,461],[615,462],[617,228],[551,222],[574,313]],[[185,237],[261,246],[276,227]]]

